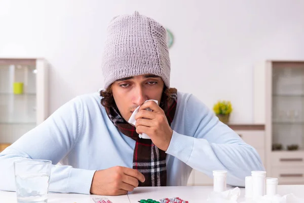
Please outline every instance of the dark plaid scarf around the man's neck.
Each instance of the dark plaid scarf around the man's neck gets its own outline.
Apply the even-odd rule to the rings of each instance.
[[[175,115],[177,104],[177,90],[169,95],[163,94],[161,107],[164,110],[168,123],[171,125]],[[138,137],[136,128],[129,124],[120,115],[117,107],[106,107],[106,113],[112,123],[126,136],[136,141],[133,153],[133,168],[145,177],[145,182],[139,181],[138,186],[166,186],[167,168],[166,153],[153,144],[150,139],[141,139]]]

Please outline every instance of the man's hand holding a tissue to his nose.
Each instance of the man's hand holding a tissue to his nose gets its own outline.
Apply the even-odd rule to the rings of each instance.
[[[146,108],[150,108],[153,112],[145,110]],[[146,133],[159,149],[167,151],[173,130],[162,108],[154,101],[147,101],[139,108],[135,120],[138,134]]]

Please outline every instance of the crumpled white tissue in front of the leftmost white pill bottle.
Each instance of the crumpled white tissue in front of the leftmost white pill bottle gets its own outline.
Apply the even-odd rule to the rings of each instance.
[[[241,194],[239,187],[235,187],[231,190],[226,190],[223,192],[212,191],[208,195],[208,203],[237,203],[237,200]]]

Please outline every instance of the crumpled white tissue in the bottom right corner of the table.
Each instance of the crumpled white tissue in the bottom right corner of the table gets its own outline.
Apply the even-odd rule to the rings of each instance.
[[[304,199],[296,197],[294,194],[281,195],[264,195],[259,199],[247,199],[242,203],[303,203]]]

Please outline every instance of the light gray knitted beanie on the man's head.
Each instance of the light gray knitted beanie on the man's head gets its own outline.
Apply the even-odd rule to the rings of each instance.
[[[104,88],[114,81],[143,74],[162,77],[170,87],[167,31],[157,21],[140,15],[113,18],[102,56]]]

